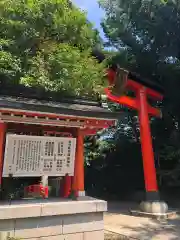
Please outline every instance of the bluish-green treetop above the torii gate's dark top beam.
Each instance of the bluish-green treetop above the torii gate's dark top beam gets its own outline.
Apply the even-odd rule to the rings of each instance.
[[[178,1],[102,0],[100,5],[106,13],[102,26],[108,43],[118,50],[114,61],[161,83],[166,96],[175,100],[179,95],[175,91],[180,60]]]

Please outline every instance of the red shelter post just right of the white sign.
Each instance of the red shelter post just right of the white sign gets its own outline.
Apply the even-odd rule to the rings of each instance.
[[[76,197],[84,197],[84,134],[77,129],[76,156],[72,190]]]

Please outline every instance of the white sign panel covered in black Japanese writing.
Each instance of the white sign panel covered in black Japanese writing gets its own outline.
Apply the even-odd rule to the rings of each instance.
[[[76,139],[7,134],[3,177],[74,175]]]

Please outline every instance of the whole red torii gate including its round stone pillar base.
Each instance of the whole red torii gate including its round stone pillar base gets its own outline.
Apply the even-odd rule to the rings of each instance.
[[[162,101],[163,95],[158,91],[155,91],[149,87],[144,86],[141,83],[135,82],[132,79],[128,79],[128,72],[126,72],[125,74],[126,74],[125,90],[133,91],[135,93],[134,98],[126,95],[115,96],[112,94],[111,91],[112,85],[116,84],[114,83],[116,71],[112,69],[108,70],[107,75],[110,87],[105,89],[105,93],[107,98],[112,102],[125,105],[129,108],[138,111],[144,168],[144,180],[146,189],[146,202],[144,202],[141,205],[141,207],[143,208],[142,210],[145,212],[165,213],[167,211],[167,204],[164,202],[160,202],[159,198],[151,130],[149,123],[149,116],[161,117],[161,111],[155,107],[152,107],[148,103],[148,98],[151,98],[156,101]],[[153,205],[154,203],[156,204]]]

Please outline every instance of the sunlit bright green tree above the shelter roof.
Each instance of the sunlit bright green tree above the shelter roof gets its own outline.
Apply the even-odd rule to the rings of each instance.
[[[97,30],[68,0],[0,1],[1,81],[93,96],[104,77],[91,57],[97,43]]]

